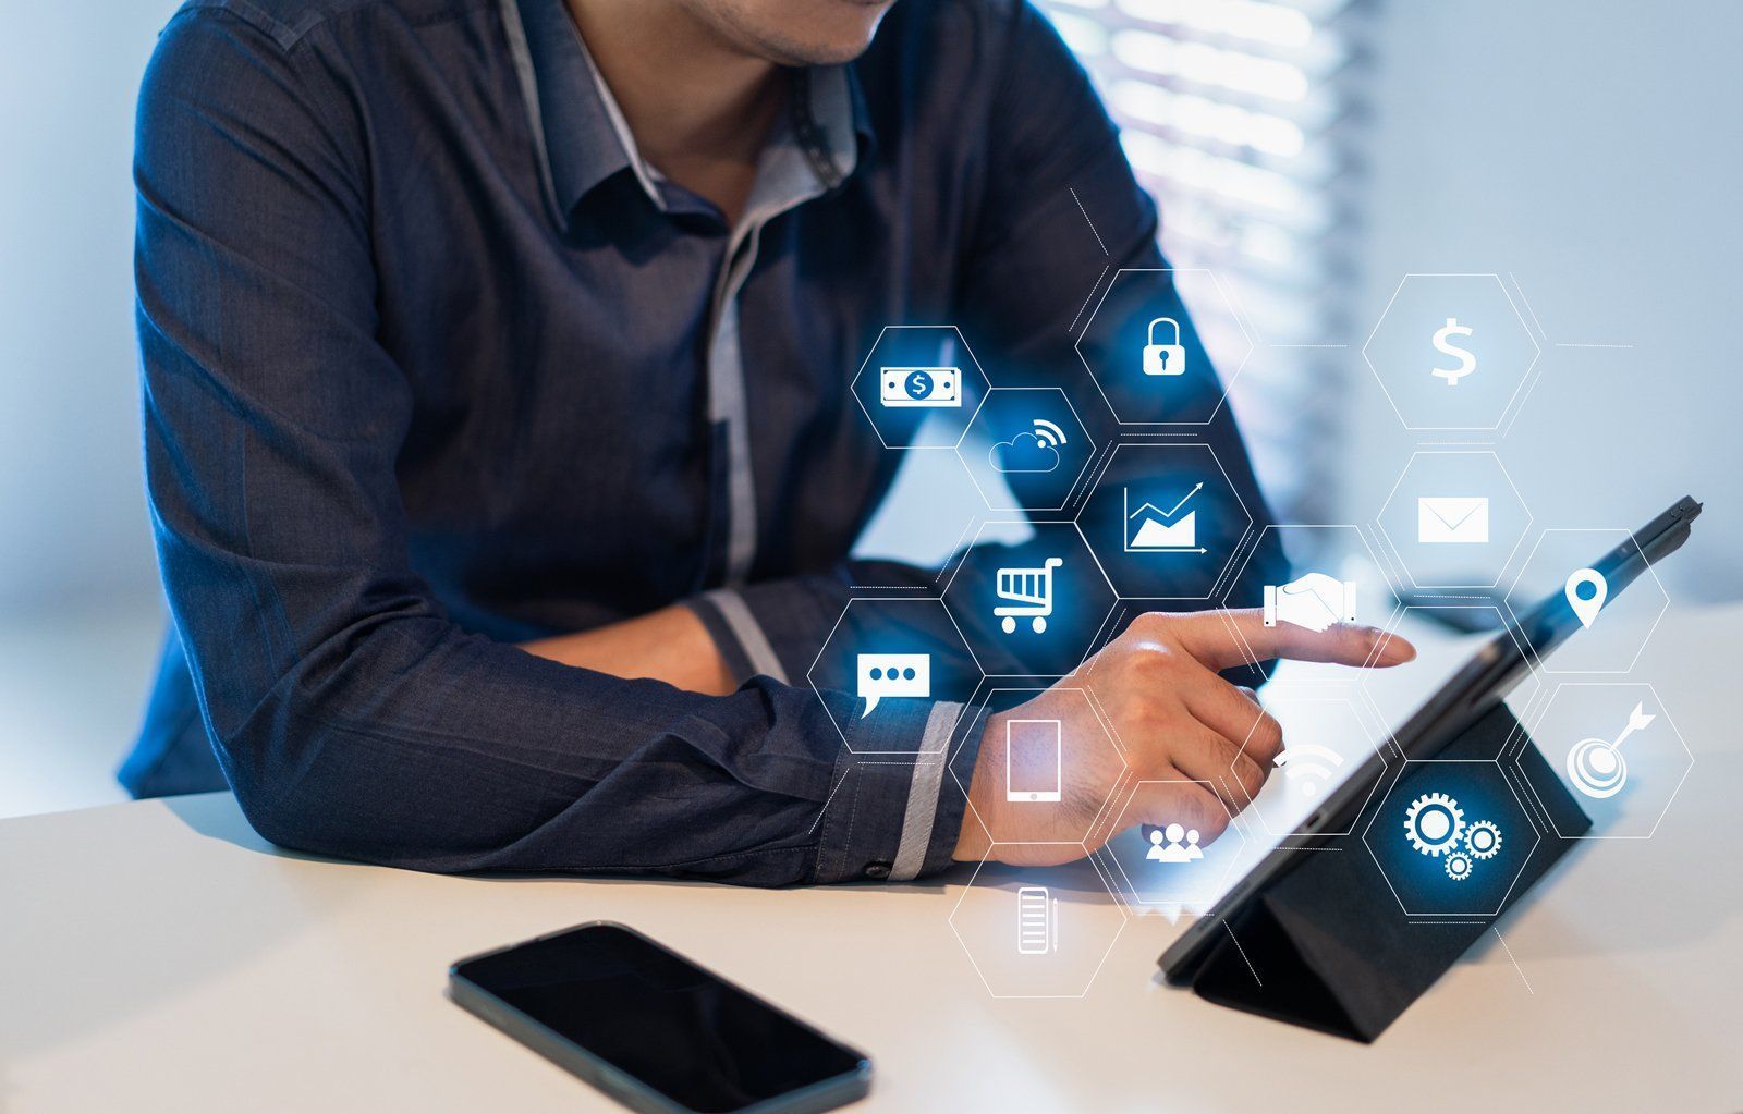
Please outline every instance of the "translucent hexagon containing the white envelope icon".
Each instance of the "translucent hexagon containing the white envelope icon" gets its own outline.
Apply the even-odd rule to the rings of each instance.
[[[1487,450],[1410,453],[1379,513],[1415,588],[1495,588],[1530,521],[1501,457]]]

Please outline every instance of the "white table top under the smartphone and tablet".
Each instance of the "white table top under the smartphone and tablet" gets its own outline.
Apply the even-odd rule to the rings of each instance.
[[[1740,628],[1673,612],[1640,662],[1696,755],[1656,837],[1577,847],[1501,922],[1511,957],[1490,934],[1373,1046],[1159,985],[1163,917],[1082,999],[994,999],[946,924],[964,877],[450,879],[274,852],[211,795],[0,823],[0,1111],[617,1109],[443,994],[451,959],[594,917],[868,1049],[882,1111],[1740,1111]]]

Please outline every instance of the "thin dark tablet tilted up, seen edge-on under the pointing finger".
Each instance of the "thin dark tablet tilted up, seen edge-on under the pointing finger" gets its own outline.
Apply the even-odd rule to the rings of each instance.
[[[1623,589],[1675,553],[1689,537],[1689,523],[1701,513],[1692,499],[1677,500],[1628,540],[1611,549],[1590,565],[1605,586],[1598,607],[1607,607]],[[1495,708],[1530,671],[1532,657],[1543,661],[1569,635],[1581,629],[1581,619],[1565,591],[1551,593],[1515,624],[1497,633],[1476,650],[1452,678],[1393,732],[1393,741],[1405,758],[1436,757],[1476,720]],[[1187,985],[1210,955],[1217,940],[1217,924],[1236,917],[1246,903],[1265,887],[1295,870],[1309,856],[1295,854],[1309,847],[1323,847],[1333,833],[1353,830],[1356,818],[1386,776],[1387,765],[1379,750],[1335,791],[1328,793],[1302,826],[1258,861],[1234,884],[1180,940],[1163,952],[1157,964],[1171,985]]]

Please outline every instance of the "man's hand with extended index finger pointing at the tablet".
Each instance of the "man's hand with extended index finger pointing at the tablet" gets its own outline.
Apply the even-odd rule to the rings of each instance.
[[[1408,642],[1370,626],[1340,622],[1323,631],[1292,624],[1267,628],[1257,608],[1142,615],[1075,675],[987,720],[969,786],[969,804],[987,825],[983,828],[973,818],[962,823],[955,858],[985,858],[992,847],[988,830],[999,833],[992,849],[994,858],[1004,863],[1051,865],[1081,858],[1077,840],[1102,809],[1107,786],[1119,781],[1126,767],[1138,781],[1178,779],[1177,785],[1143,786],[1126,809],[1128,819],[1154,825],[1178,821],[1197,828],[1204,842],[1217,839],[1229,826],[1229,814],[1245,807],[1264,786],[1271,760],[1283,750],[1283,729],[1258,706],[1253,692],[1217,675],[1218,669],[1246,664],[1248,649],[1258,659],[1293,657],[1346,666],[1396,666],[1415,657]],[[1093,715],[1084,701],[1061,696],[1060,689],[1084,689],[1096,697],[1126,748],[1126,767],[1102,744],[1102,725],[1084,722]],[[1009,718],[1060,720],[1065,753],[1056,807],[1006,802],[1006,748],[990,741],[1004,737]],[[1245,800],[1227,786],[1231,778]],[[1112,835],[1096,833],[1089,849]],[[1058,846],[1020,846],[1049,842]]]

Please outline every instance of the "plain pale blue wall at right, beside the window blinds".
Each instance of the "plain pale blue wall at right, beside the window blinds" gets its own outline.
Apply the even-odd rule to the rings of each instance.
[[[1513,272],[1551,342],[1633,343],[1546,349],[1499,452],[1539,526],[1705,500],[1659,570],[1684,600],[1743,596],[1740,42],[1734,0],[1391,0],[1377,19],[1358,321],[1407,272]],[[1408,448],[1360,385],[1351,520]]]

